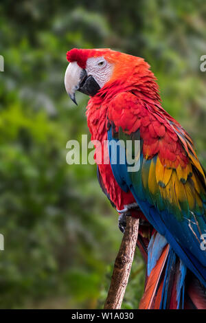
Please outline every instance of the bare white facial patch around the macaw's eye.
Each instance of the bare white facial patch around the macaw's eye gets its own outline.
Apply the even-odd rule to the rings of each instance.
[[[86,71],[87,75],[93,76],[95,81],[98,82],[98,85],[100,85],[100,88],[102,88],[111,78],[113,65],[108,63],[103,56],[91,57],[87,60]]]

